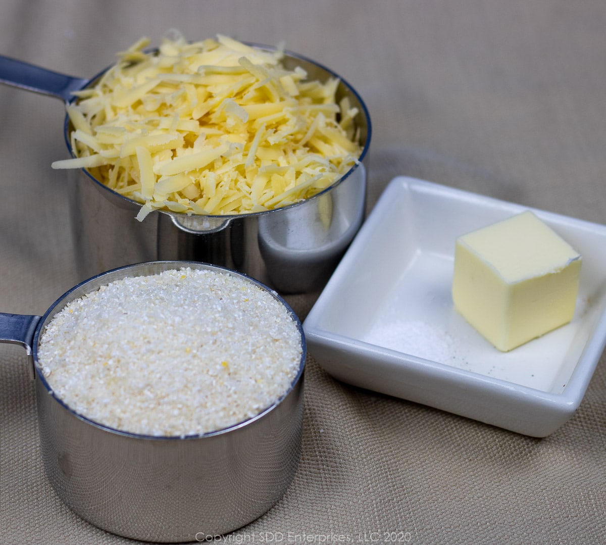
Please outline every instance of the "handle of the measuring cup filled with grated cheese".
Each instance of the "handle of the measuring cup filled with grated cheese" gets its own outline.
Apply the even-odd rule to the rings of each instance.
[[[0,55],[0,83],[70,102],[72,92],[82,89],[87,80]]]

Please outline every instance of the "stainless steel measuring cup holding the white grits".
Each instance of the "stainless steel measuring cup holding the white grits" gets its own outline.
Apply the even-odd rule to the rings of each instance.
[[[126,276],[182,266],[239,274],[198,262],[147,262],[78,284],[42,317],[0,314],[0,342],[21,344],[29,356],[42,460],[56,493],[95,526],[144,541],[201,540],[250,523],[282,497],[301,452],[305,338],[275,292],[301,333],[298,374],[281,400],[226,429],[185,438],[112,429],[70,409],[39,372],[40,335],[70,301]]]

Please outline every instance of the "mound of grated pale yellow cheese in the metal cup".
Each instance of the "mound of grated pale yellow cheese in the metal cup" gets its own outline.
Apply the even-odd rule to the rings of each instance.
[[[361,154],[338,79],[308,81],[285,69],[282,50],[227,36],[187,42],[166,36],[158,52],[139,39],[67,106],[75,158],[55,169],[87,169],[140,202],[187,214],[262,212],[310,198]]]

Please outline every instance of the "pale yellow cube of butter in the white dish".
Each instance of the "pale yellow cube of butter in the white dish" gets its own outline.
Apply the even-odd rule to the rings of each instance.
[[[581,256],[527,211],[456,240],[453,302],[507,352],[574,315]]]

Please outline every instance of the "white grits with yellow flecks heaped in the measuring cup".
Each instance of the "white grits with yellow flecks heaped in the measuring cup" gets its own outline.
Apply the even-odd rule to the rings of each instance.
[[[38,363],[70,409],[123,432],[221,430],[280,400],[299,372],[287,307],[242,276],[166,270],[101,286],[45,327]]]

